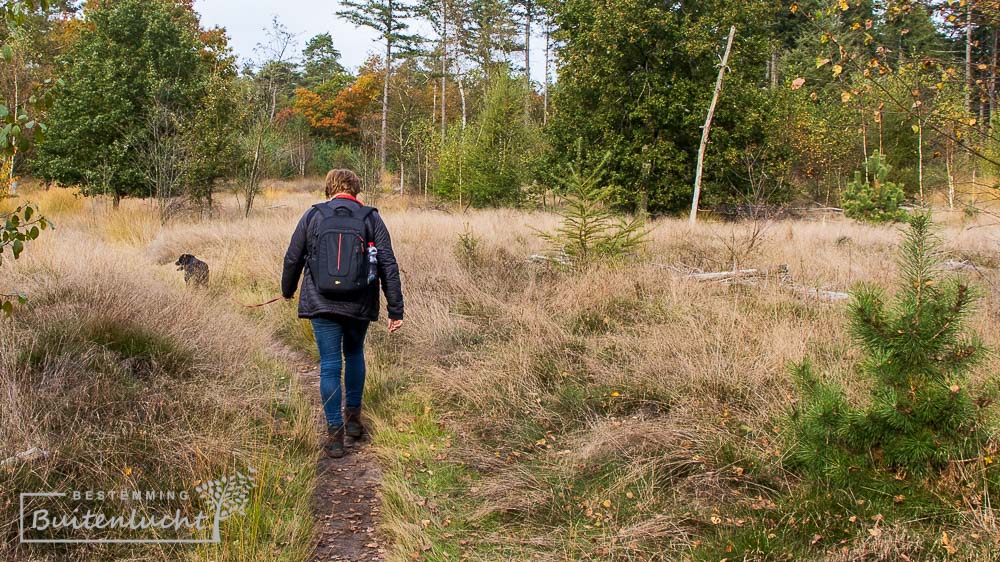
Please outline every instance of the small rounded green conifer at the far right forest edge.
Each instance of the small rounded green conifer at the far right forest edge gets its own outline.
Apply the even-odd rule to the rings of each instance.
[[[854,172],[854,179],[844,191],[844,214],[862,222],[885,223],[906,220],[906,211],[899,208],[906,195],[902,184],[887,180],[891,167],[885,156],[876,150],[865,161],[866,173]]]

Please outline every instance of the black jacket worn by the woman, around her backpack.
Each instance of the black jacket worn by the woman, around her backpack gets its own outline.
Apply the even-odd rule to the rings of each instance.
[[[346,198],[331,199],[325,204],[333,207],[349,206],[352,209],[361,207],[360,203]],[[285,265],[281,272],[281,295],[286,299],[295,295],[295,287],[299,284],[299,277],[302,277],[302,290],[299,293],[299,318],[346,316],[358,320],[378,320],[378,288],[381,285],[382,292],[385,293],[389,318],[402,320],[403,288],[399,281],[399,266],[396,265],[396,256],[392,253],[389,230],[382,222],[378,211],[368,215],[365,220],[365,228],[368,240],[375,242],[375,247],[378,249],[379,279],[372,283],[367,291],[349,300],[332,300],[321,295],[313,283],[309,268],[306,266],[308,246],[310,241],[315,238],[316,229],[319,228],[321,222],[316,219],[318,214],[315,209],[310,208],[306,214],[302,215],[298,226],[295,227],[295,232],[292,234],[292,241],[288,244],[288,251],[285,252]],[[303,276],[304,267],[306,274]]]

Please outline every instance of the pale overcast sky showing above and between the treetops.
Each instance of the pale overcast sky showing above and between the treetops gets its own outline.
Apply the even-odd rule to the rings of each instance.
[[[333,44],[340,51],[344,65],[357,69],[369,55],[381,52],[376,34],[366,28],[338,18],[340,2],[330,0],[195,0],[195,9],[201,14],[204,27],[224,27],[233,50],[243,60],[254,59],[254,47],[265,41],[264,28],[271,19],[278,19],[289,31],[298,35],[296,53],[312,36],[329,32]],[[418,28],[425,34],[427,30]],[[541,82],[544,71],[544,40],[532,39],[532,78]],[[518,61],[522,60],[520,57]]]

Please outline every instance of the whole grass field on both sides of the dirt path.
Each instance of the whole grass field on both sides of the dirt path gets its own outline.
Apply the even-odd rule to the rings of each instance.
[[[248,516],[224,527],[238,542],[218,551],[62,554],[306,557],[317,440],[287,349],[310,351],[311,334],[291,303],[233,301],[275,296],[312,187],[271,186],[250,219],[226,201],[211,220],[166,225],[149,202],[24,195],[56,229],[4,264],[4,288],[30,302],[0,322],[0,448],[52,455],[3,472],[4,498],[63,481],[188,486],[245,466],[260,480]],[[754,238],[751,224],[667,219],[642,260],[569,271],[527,259],[547,250],[537,230],[554,215],[377,204],[407,307],[401,337],[372,330],[366,391],[394,560],[1000,556],[986,459],[939,481],[904,476],[902,500],[818,492],[784,468],[790,362],[808,356],[864,399],[843,302],[685,276],[785,264],[800,287],[890,287],[895,228],[782,221]],[[960,273],[984,295],[970,326],[1000,349],[1000,227],[937,218],[948,252],[975,265]],[[207,290],[184,288],[181,253],[211,264]],[[990,355],[973,383],[998,372]],[[49,557],[18,547],[16,508],[4,505],[0,555]]]

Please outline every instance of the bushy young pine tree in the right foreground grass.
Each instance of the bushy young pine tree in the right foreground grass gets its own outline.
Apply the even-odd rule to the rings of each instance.
[[[867,404],[849,404],[808,362],[794,366],[803,397],[792,415],[791,461],[813,474],[840,481],[865,467],[928,474],[979,452],[986,402],[972,398],[966,378],[985,350],[964,330],[975,296],[957,280],[939,280],[942,254],[929,215],[909,223],[894,302],[887,306],[873,286],[853,293],[851,335],[864,351],[858,372],[871,380]]]

